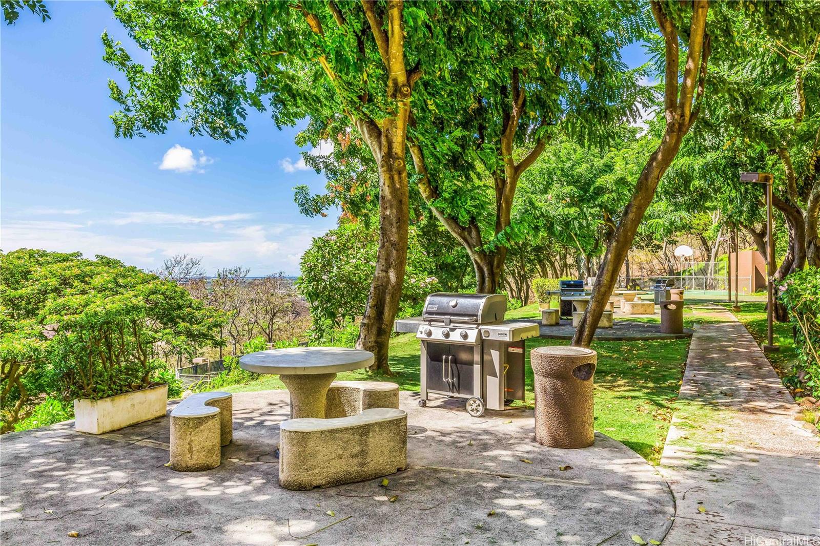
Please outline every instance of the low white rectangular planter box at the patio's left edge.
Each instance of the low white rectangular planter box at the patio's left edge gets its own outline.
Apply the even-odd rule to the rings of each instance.
[[[74,430],[102,435],[163,416],[167,405],[167,384],[99,400],[77,398],[74,401]]]

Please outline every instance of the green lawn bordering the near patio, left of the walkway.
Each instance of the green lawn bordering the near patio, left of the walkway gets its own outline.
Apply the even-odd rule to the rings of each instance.
[[[526,307],[522,309],[526,310]],[[526,311],[516,310],[512,313],[522,318]],[[534,396],[529,350],[562,344],[568,344],[568,341],[527,340],[526,404],[531,405]],[[680,389],[689,340],[601,341],[595,342],[592,348],[598,352],[595,430],[623,442],[647,461],[658,464]],[[392,377],[359,370],[339,374],[339,380],[390,380],[404,390],[418,390],[419,353],[419,342],[413,334],[400,334],[390,344]],[[253,383],[235,385],[225,390],[239,393],[284,388],[277,377],[265,376]]]

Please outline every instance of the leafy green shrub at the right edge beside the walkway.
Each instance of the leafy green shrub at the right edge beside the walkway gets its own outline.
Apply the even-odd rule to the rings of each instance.
[[[779,297],[795,326],[797,362],[786,382],[792,387],[804,384],[809,392],[820,394],[820,268],[787,276]]]

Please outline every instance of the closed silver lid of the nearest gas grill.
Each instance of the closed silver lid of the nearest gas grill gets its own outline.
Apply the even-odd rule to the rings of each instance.
[[[446,293],[427,296],[421,317],[427,321],[490,324],[504,320],[507,297],[500,293]]]

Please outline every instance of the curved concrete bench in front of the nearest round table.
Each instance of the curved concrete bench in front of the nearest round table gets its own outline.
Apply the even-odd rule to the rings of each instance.
[[[407,467],[408,414],[377,407],[336,419],[291,419],[280,426],[279,441],[285,489],[371,480]]]

